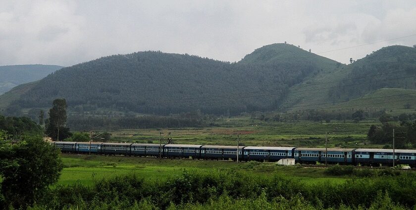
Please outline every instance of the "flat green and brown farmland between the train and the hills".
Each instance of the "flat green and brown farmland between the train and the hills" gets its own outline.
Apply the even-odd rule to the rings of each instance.
[[[369,127],[379,124],[374,120],[277,123],[238,117],[222,119],[218,124],[218,127],[202,128],[124,129],[111,131],[111,134],[115,142],[159,143],[160,132],[163,132],[163,139],[172,138],[176,144],[236,145],[237,133],[240,133],[240,144],[245,146],[322,147],[325,132],[328,132],[329,147],[382,147],[369,145],[366,140]]]

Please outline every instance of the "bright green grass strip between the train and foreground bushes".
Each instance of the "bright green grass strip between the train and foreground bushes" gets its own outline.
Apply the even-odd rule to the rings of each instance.
[[[179,175],[184,170],[200,170],[209,173],[213,170],[239,170],[254,173],[259,177],[272,177],[273,174],[298,179],[305,183],[330,182],[341,183],[348,177],[327,177],[323,168],[283,167],[275,163],[232,161],[203,161],[186,159],[157,159],[123,156],[73,155],[62,154],[64,169],[57,184],[80,182],[92,185],[102,178],[134,173],[147,181],[166,180]]]

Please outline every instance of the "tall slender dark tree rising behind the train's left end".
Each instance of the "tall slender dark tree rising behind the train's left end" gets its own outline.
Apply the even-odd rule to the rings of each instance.
[[[59,141],[59,129],[66,123],[66,100],[57,98],[52,102],[53,106],[49,110],[49,123],[53,129],[57,130],[57,141]]]

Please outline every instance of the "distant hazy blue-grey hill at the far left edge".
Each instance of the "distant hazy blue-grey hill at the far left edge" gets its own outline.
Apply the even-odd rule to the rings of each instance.
[[[0,66],[0,95],[19,84],[40,80],[61,68],[40,64]]]

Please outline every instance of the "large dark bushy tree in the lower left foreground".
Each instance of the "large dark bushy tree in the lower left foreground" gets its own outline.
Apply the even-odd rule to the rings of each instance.
[[[63,167],[59,154],[59,149],[43,141],[42,136],[25,137],[16,144],[0,142],[1,192],[5,202],[0,209],[27,209],[40,199],[59,178]]]

